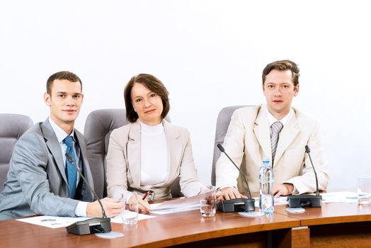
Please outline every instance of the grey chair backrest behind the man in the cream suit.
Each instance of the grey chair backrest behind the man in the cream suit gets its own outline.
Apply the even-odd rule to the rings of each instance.
[[[215,164],[217,159],[220,157],[220,151],[217,148],[217,144],[223,144],[224,137],[227,134],[229,123],[233,112],[238,108],[244,108],[246,106],[229,106],[222,108],[217,116],[217,128],[215,130],[215,142],[214,142],[214,156],[212,157],[212,171],[211,171],[211,184],[215,185]]]

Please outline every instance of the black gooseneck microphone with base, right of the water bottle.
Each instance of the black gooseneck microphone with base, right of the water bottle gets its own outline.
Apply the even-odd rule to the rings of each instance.
[[[306,206],[313,207],[313,208],[321,208],[322,206],[322,196],[319,195],[319,188],[318,188],[318,178],[316,169],[314,169],[314,165],[312,162],[312,157],[310,156],[310,149],[309,146],[305,146],[305,153],[308,154],[309,160],[312,164],[312,168],[314,171],[314,176],[316,178],[316,195],[299,195],[299,196],[287,196],[287,203],[290,208],[303,208]]]

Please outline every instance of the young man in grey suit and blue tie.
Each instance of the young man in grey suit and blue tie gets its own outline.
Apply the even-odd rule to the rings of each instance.
[[[57,72],[47,80],[44,100],[50,117],[30,128],[16,143],[8,179],[0,193],[0,220],[28,215],[101,217],[98,201],[66,159],[72,157],[93,187],[83,135],[74,129],[84,95],[79,77]],[[102,199],[108,217],[120,214],[122,204]]]

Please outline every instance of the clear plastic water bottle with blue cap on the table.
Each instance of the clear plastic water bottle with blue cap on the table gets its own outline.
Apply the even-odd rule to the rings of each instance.
[[[273,170],[269,164],[269,159],[264,158],[259,171],[259,210],[261,213],[270,215],[275,210],[273,199]]]

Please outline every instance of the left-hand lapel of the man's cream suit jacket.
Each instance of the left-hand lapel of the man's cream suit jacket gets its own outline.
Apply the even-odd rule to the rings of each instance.
[[[270,127],[267,115],[263,109],[264,108],[261,107],[256,116],[253,133],[255,133],[256,139],[263,149],[263,157],[272,157],[272,149],[270,147]]]

